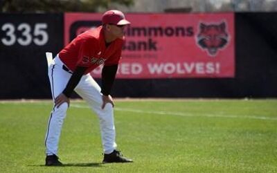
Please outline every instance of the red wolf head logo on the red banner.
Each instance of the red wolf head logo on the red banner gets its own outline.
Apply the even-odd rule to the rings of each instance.
[[[224,48],[229,42],[229,35],[226,32],[226,24],[199,24],[197,44],[200,48],[208,51],[208,55],[215,56],[219,49]]]

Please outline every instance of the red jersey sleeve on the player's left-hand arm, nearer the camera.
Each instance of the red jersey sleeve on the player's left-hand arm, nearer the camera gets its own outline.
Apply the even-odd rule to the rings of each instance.
[[[79,48],[77,66],[88,67],[90,65],[89,60],[93,55],[93,46],[96,46],[93,39],[86,39],[82,42]]]

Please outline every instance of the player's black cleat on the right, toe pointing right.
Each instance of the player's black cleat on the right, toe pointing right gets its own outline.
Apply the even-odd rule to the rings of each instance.
[[[123,155],[114,149],[114,152],[111,154],[104,154],[104,159],[102,163],[128,163],[133,162],[132,159],[125,158]]]

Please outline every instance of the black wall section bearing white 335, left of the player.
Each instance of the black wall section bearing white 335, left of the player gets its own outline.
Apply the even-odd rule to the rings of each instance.
[[[46,51],[63,46],[63,14],[0,15],[0,98],[49,98]]]

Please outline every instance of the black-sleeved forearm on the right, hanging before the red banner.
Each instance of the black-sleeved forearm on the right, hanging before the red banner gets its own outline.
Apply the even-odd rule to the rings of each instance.
[[[104,66],[102,69],[102,87],[101,93],[103,95],[109,95],[111,92],[111,87],[114,84],[114,79],[116,78],[116,71],[118,69],[118,64],[113,66]]]

